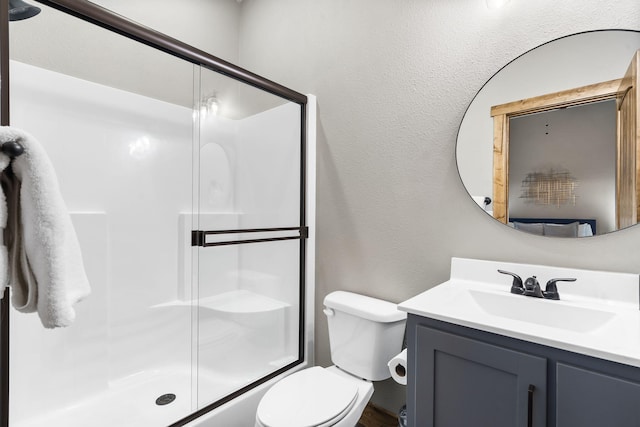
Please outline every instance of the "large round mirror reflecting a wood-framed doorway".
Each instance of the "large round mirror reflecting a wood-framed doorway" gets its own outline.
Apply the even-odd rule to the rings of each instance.
[[[528,233],[586,237],[638,222],[640,32],[591,31],[517,57],[469,105],[456,146],[469,195]]]

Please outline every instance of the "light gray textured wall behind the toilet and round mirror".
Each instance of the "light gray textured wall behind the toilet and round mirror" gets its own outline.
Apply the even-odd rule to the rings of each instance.
[[[624,0],[245,0],[240,65],[318,96],[316,357],[324,296],[402,301],[449,276],[451,256],[640,272],[640,227],[584,240],[520,233],[468,197],[456,133],[481,85],[517,55],[592,29],[640,29]],[[376,385],[396,410],[404,389]]]

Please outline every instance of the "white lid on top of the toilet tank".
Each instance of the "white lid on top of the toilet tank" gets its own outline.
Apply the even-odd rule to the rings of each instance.
[[[397,304],[353,292],[331,292],[324,298],[324,305],[374,322],[390,323],[407,318],[407,313],[398,310]]]

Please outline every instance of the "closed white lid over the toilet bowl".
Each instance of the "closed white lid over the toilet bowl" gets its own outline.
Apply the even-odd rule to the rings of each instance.
[[[344,417],[358,386],[321,367],[298,371],[277,382],[258,405],[265,427],[319,427]]]

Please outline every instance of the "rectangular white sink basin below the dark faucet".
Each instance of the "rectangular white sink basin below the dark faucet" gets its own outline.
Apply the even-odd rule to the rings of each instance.
[[[468,292],[473,302],[487,314],[573,332],[595,331],[615,317],[610,311],[572,306],[561,301],[475,289]]]

